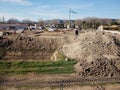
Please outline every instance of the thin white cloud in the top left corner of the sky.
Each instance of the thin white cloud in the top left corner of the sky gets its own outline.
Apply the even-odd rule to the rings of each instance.
[[[0,2],[5,2],[5,3],[17,3],[20,5],[31,5],[32,3],[28,0],[0,0]]]

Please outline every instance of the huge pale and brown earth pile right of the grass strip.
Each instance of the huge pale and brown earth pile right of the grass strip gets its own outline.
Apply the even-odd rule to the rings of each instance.
[[[120,75],[120,35],[101,31],[81,33],[61,52],[78,60],[76,71],[82,77]]]

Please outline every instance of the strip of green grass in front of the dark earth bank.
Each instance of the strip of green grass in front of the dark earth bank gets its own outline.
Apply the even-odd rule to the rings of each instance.
[[[0,61],[0,74],[69,74],[74,72],[73,65],[77,62],[69,61]]]

